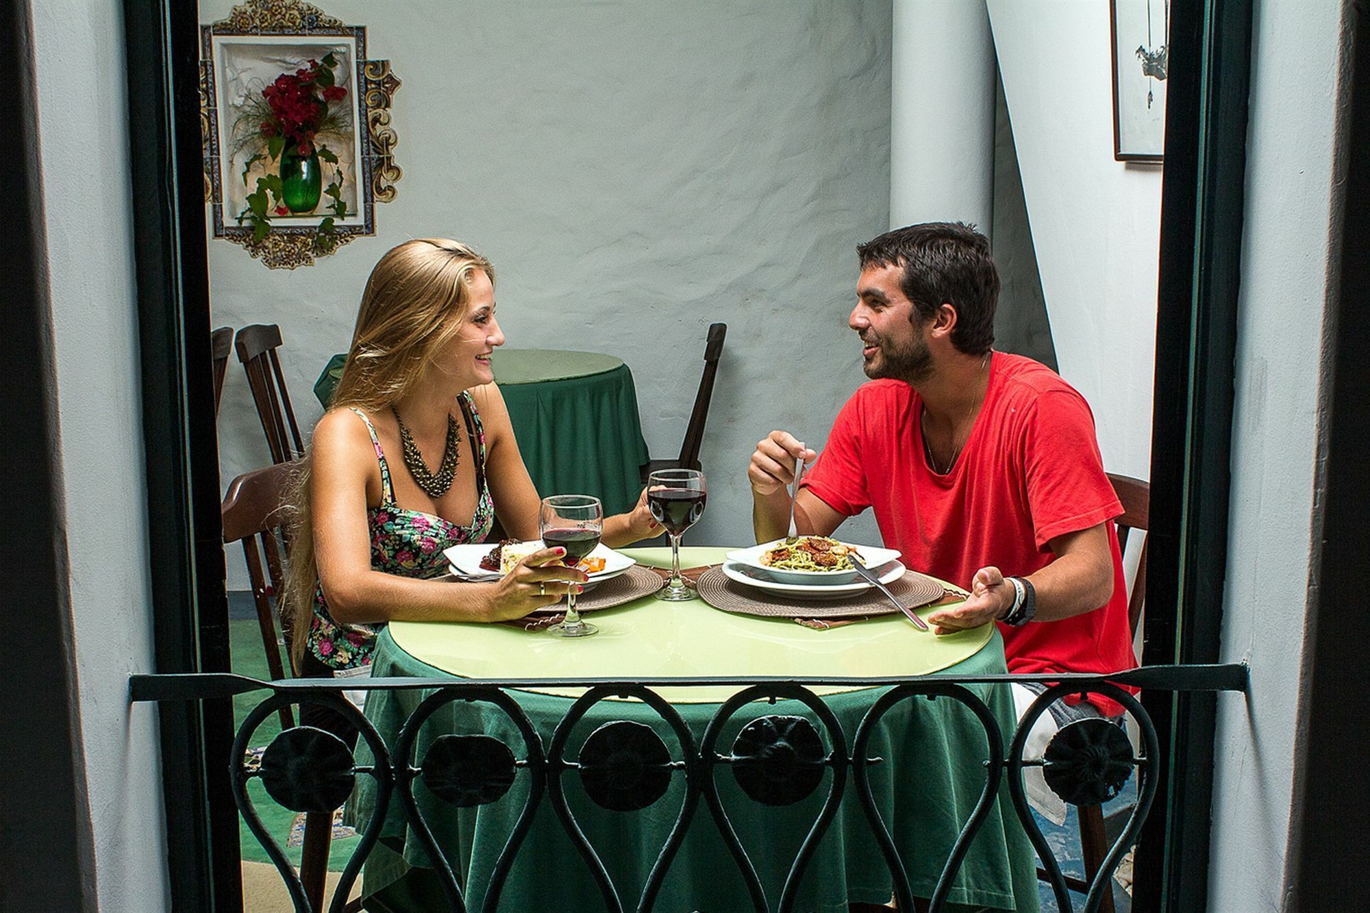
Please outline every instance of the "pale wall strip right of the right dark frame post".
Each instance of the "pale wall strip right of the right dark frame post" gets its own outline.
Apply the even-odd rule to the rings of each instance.
[[[1223,662],[1251,664],[1251,696],[1218,699],[1212,909],[1284,909],[1322,421],[1338,5],[1256,4],[1222,643]]]

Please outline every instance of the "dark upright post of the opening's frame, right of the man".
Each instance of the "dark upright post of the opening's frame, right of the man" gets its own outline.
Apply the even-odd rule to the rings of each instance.
[[[1217,662],[1228,555],[1251,0],[1170,8],[1143,662]],[[1144,694],[1160,733],[1137,909],[1207,903],[1212,695]]]

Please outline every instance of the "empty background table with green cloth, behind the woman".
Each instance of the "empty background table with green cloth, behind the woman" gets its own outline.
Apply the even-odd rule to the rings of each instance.
[[[334,355],[314,384],[325,409],[345,359]],[[496,350],[490,365],[540,495],[595,495],[607,514],[637,502],[648,455],[627,365],[612,355],[540,348]]]

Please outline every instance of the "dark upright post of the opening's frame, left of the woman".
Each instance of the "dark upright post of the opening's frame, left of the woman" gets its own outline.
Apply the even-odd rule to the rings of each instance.
[[[199,4],[125,0],[142,354],[142,440],[158,672],[227,672],[229,607],[210,352]],[[178,910],[241,910],[230,701],[159,707]]]

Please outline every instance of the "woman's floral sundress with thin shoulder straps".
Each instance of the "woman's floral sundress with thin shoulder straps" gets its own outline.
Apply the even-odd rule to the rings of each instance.
[[[482,541],[495,524],[495,502],[485,484],[485,430],[481,415],[470,392],[458,398],[466,432],[475,441],[475,513],[467,526],[443,520],[437,514],[421,510],[404,510],[395,503],[395,487],[390,484],[390,466],[385,462],[381,439],[375,435],[371,419],[360,410],[352,411],[362,417],[375,447],[375,459],[381,463],[381,503],[366,511],[367,526],[371,531],[371,569],[384,570],[400,577],[441,577],[447,573],[447,559],[443,550],[464,543]],[[323,599],[323,587],[314,589],[314,618],[310,622],[308,648],[319,662],[333,669],[352,669],[371,662],[375,650],[375,632],[381,625],[344,625],[329,614]]]

